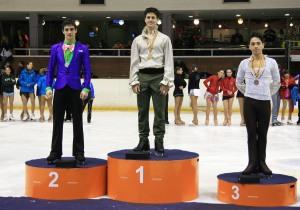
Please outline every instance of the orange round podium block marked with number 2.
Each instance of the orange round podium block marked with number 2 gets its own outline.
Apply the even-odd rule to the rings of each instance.
[[[73,158],[63,158],[71,160]],[[107,162],[86,158],[80,168],[59,168],[46,159],[30,160],[26,165],[25,194],[47,200],[96,198],[106,194]]]

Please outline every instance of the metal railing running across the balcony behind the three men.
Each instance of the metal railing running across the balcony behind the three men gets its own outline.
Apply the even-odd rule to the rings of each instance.
[[[50,48],[15,48],[15,56],[48,57]],[[284,57],[285,48],[265,48],[272,57]],[[194,48],[173,49],[174,57],[246,57],[251,54],[245,48]],[[91,57],[129,57],[130,49],[90,49]]]

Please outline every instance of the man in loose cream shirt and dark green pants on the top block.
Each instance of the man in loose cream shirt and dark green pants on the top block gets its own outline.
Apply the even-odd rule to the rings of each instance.
[[[149,151],[149,106],[153,100],[155,154],[164,156],[165,104],[174,81],[174,61],[170,38],[158,31],[159,11],[147,8],[142,34],[133,40],[130,61],[130,85],[137,94],[139,144],[134,151]]]

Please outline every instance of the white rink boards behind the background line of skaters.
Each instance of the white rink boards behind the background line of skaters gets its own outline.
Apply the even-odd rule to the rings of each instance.
[[[112,109],[126,109],[136,108],[136,95],[132,93],[128,85],[128,79],[94,79],[92,80],[96,98],[94,106],[97,108],[112,108]],[[187,81],[188,82],[188,81]],[[200,81],[201,96],[198,98],[198,104],[205,106],[204,93],[205,87],[203,80]],[[183,108],[190,107],[190,98],[187,93],[187,87],[184,89]],[[221,99],[221,95],[220,95]],[[19,90],[15,90],[15,103],[16,106],[21,106],[21,98]],[[36,100],[36,105],[38,101]],[[222,107],[220,100],[219,107]],[[173,88],[169,92],[169,107],[174,107]],[[234,102],[234,107],[238,108],[237,100]]]

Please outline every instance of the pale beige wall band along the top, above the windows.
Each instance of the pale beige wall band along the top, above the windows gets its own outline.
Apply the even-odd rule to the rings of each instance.
[[[223,0],[105,0],[105,5],[80,5],[79,2],[79,0],[0,0],[0,11],[143,11],[149,6],[162,11],[300,8],[299,0],[251,0],[250,3],[229,4],[223,4]]]

